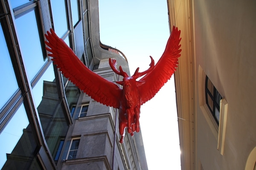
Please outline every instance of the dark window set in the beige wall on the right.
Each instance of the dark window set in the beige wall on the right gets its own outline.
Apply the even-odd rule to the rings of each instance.
[[[205,79],[205,98],[206,104],[218,124],[220,119],[220,103],[222,97],[208,77]]]

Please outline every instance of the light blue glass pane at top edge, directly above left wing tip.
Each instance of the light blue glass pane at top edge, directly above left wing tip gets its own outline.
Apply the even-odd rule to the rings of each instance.
[[[54,31],[62,37],[67,31],[67,12],[65,0],[51,0]]]

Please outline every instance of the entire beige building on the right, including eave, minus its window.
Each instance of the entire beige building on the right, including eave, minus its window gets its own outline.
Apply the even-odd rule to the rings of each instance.
[[[186,138],[190,147],[183,147],[187,141],[181,142],[181,149],[190,154],[184,166],[200,170],[202,164],[204,170],[244,170],[256,147],[256,1],[170,2],[174,2],[172,23],[186,39],[175,75],[178,116],[187,116],[193,122],[192,131],[180,126],[180,134],[190,136]],[[223,155],[217,150],[218,128],[204,107],[205,74],[228,104]],[[184,112],[186,107],[190,108],[188,113]]]

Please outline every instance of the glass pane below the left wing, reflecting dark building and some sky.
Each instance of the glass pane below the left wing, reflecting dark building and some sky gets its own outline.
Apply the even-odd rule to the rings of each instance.
[[[62,99],[59,97],[53,66],[50,65],[32,90],[39,119],[49,150],[54,158],[58,147],[67,135],[68,122]],[[58,156],[57,156],[58,157]]]

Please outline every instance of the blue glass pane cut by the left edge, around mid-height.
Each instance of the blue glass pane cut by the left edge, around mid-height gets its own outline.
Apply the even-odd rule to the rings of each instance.
[[[17,80],[12,68],[12,62],[10,59],[9,51],[6,45],[6,41],[3,35],[2,26],[0,24],[0,77],[2,80],[8,83],[0,83],[0,109],[9,100],[9,98],[18,89]],[[6,90],[8,89],[8,90]]]

